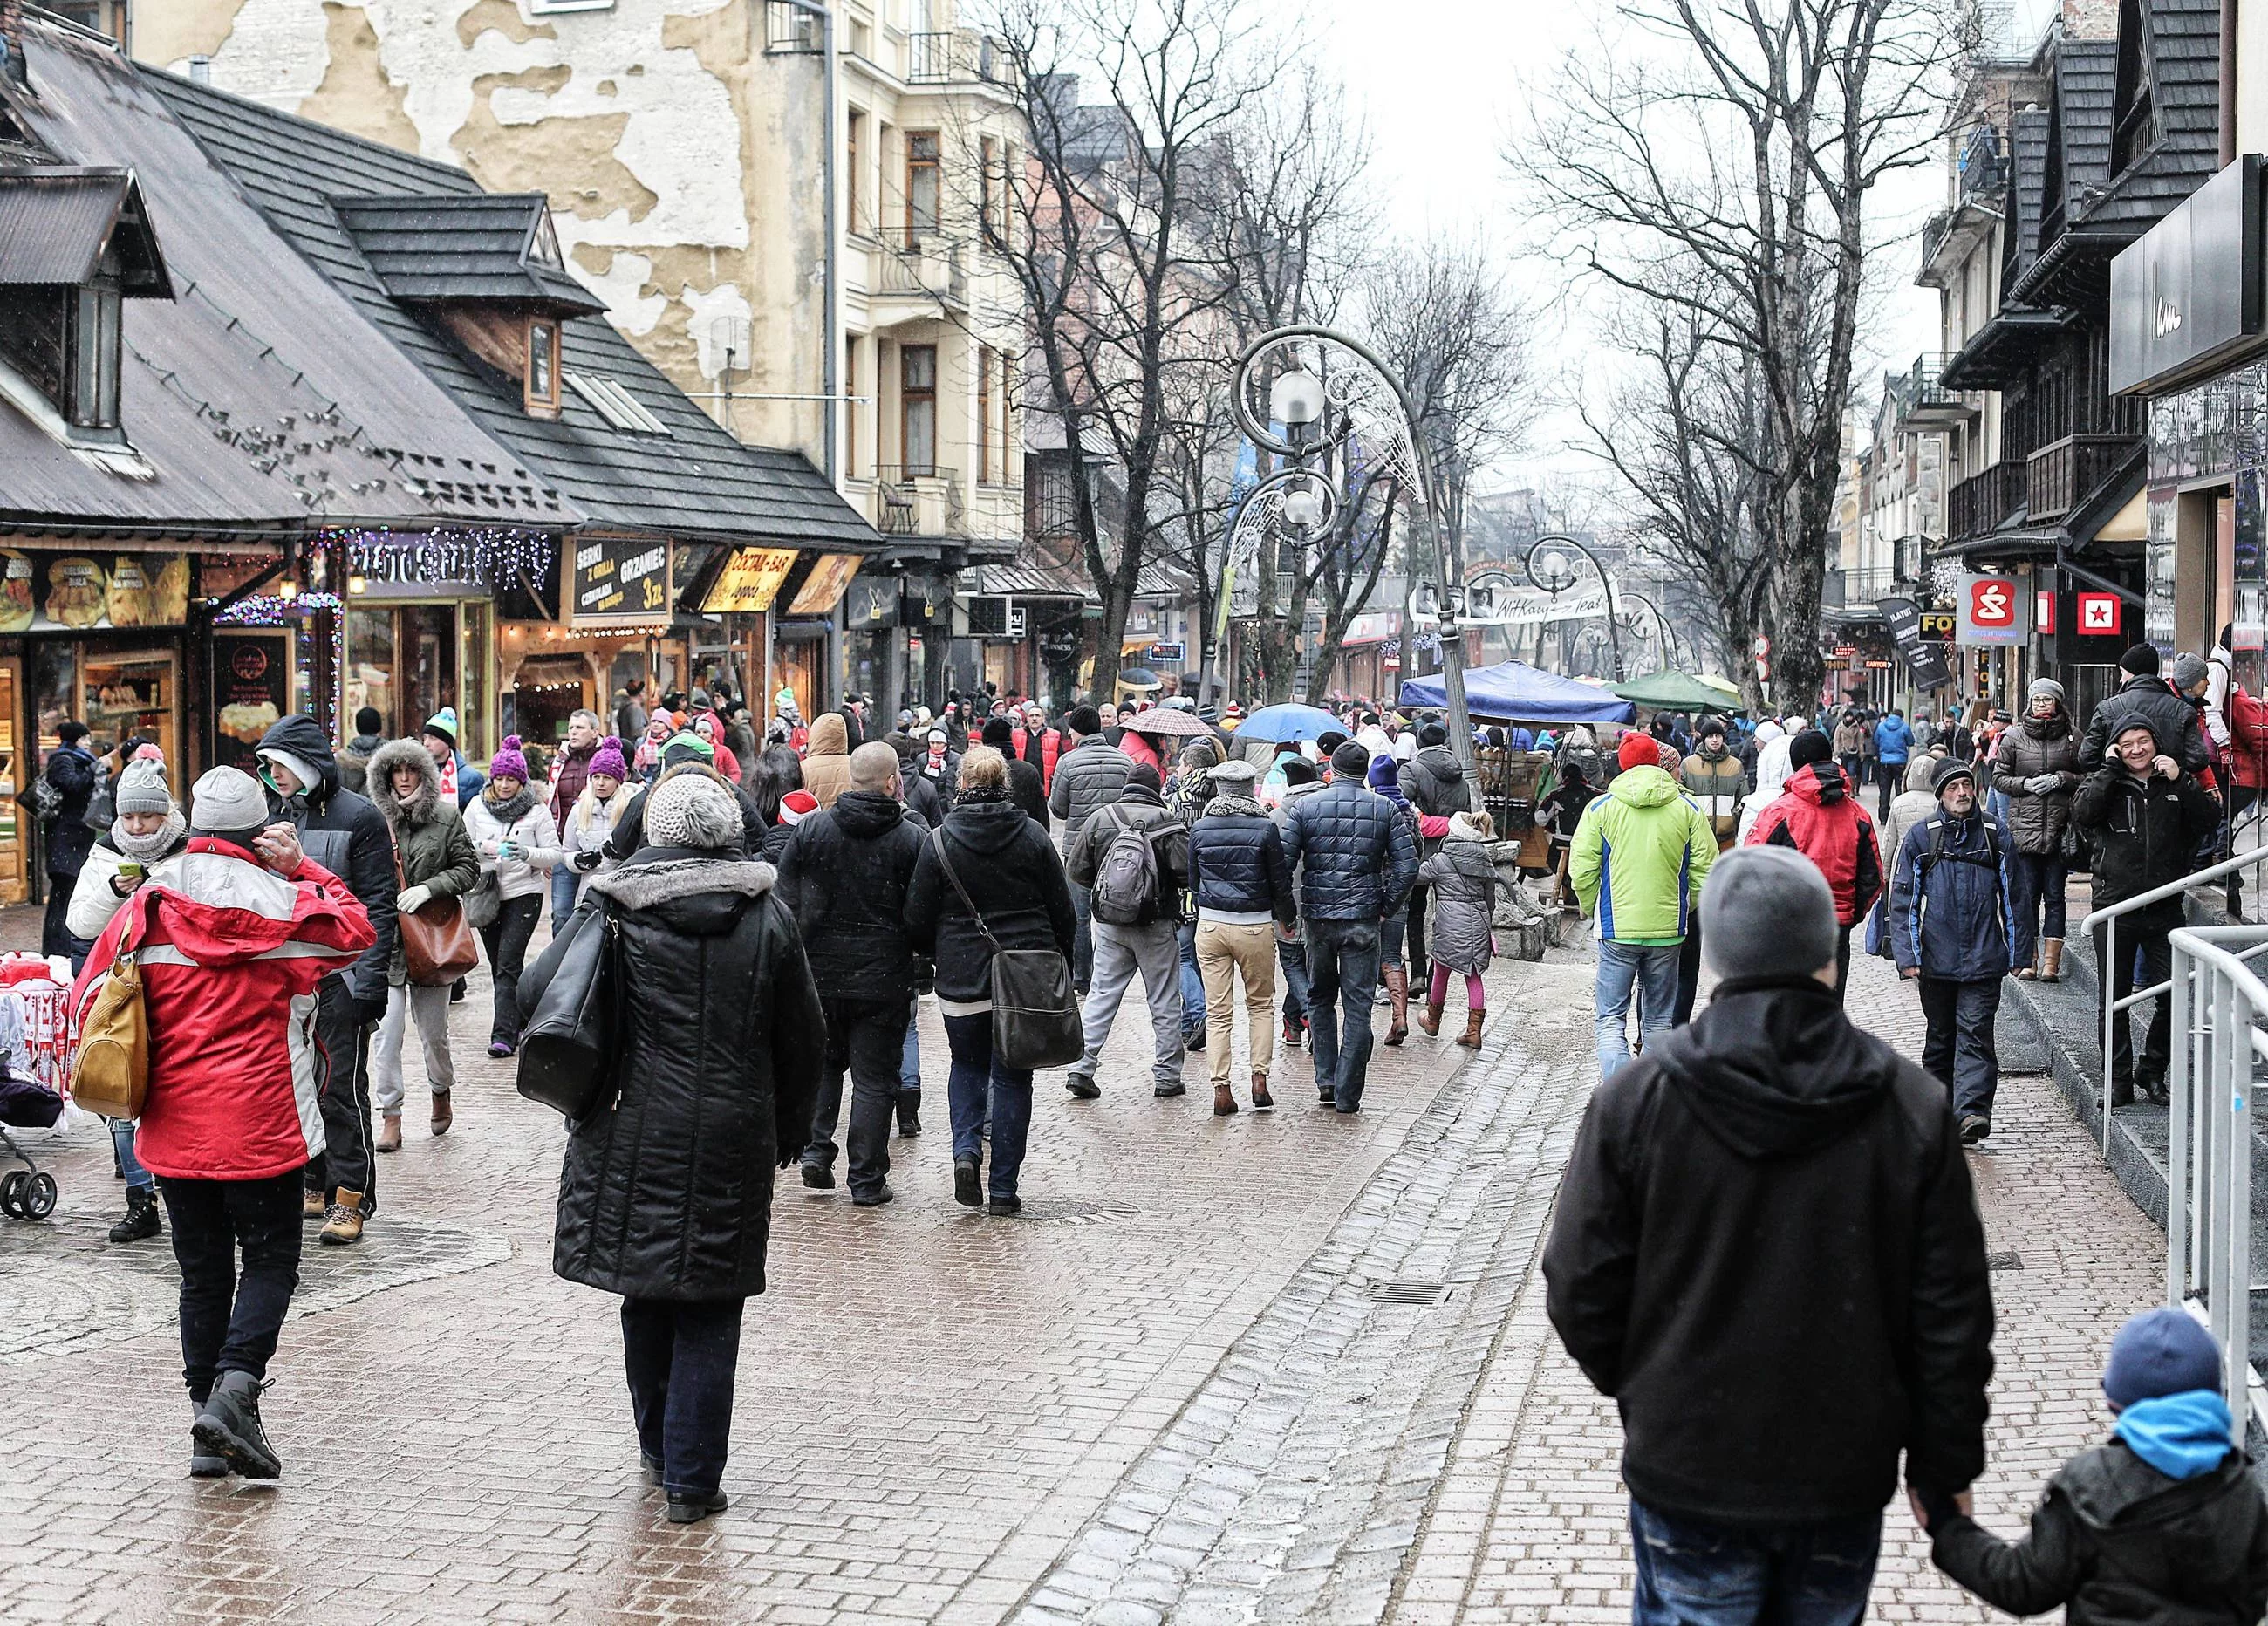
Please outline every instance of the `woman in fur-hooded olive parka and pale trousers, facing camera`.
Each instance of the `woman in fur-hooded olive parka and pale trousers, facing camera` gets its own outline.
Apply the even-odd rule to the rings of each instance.
[[[397,914],[417,914],[429,903],[463,898],[481,878],[481,855],[465,832],[456,803],[440,794],[440,767],[417,739],[395,739],[370,757],[370,801],[395,837],[401,891]],[[451,1089],[456,1066],[449,1055],[449,986],[422,986],[408,977],[401,941],[386,964],[386,1016],[370,1055],[370,1100],[379,1111],[379,1152],[401,1150],[401,1041],[417,1023],[426,1086],[433,1095],[433,1134],[456,1123]]]

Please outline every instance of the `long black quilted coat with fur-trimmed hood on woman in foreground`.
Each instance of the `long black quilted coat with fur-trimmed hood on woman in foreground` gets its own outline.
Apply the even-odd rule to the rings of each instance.
[[[803,1150],[826,1032],[819,989],[771,864],[646,848],[594,875],[631,998],[615,1102],[567,1127],[551,1268],[633,1299],[764,1290],[771,1170]],[[562,939],[565,941],[565,939]],[[542,998],[558,952],[519,984]]]

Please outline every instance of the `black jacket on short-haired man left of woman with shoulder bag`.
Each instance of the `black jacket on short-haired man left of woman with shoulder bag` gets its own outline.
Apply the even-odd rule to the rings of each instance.
[[[844,791],[789,835],[778,859],[780,903],[796,916],[826,998],[914,998],[905,889],[925,837],[885,791]]]

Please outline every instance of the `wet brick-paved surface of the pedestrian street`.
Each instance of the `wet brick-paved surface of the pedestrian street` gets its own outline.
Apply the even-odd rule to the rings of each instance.
[[[358,1247],[308,1250],[279,1488],[181,1476],[172,1261],[104,1247],[118,1184],[84,1129],[41,1152],[54,1220],[0,1238],[0,1615],[1624,1619],[1615,1411],[1535,1268],[1597,1082],[1592,955],[1567,939],[1497,962],[1470,1059],[1379,1050],[1356,1118],[1306,1104],[1300,1052],[1275,1113],[1157,1100],[1125,1025],[1100,1100],[1043,1077],[1014,1225],[953,1204],[930,1127],[891,1143],[887,1209],[782,1186],[733,1510],[692,1528],[637,1479],[615,1318],[551,1274],[560,1123],[508,1064],[460,1066],[454,1129],[415,1125]],[[1889,966],[1853,977],[1853,1018],[1914,1048]],[[2100,1438],[2102,1343],[2152,1302],[2161,1238],[2043,1077],[2000,1100],[1969,1154],[1998,1315],[1978,1517],[2014,1531]],[[1871,1615],[1996,1619],[1903,1506]]]

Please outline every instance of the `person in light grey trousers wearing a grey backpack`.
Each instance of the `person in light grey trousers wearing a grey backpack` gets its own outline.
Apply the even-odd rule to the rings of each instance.
[[[1057,771],[1057,787],[1080,771],[1073,751]],[[1118,1021],[1127,986],[1141,973],[1150,1000],[1152,1095],[1179,1095],[1182,1086],[1182,891],[1188,882],[1188,828],[1163,798],[1163,780],[1148,762],[1132,764],[1118,801],[1095,810],[1064,855],[1064,875],[1089,891],[1093,916],[1093,982],[1080,1021],[1086,1055],[1064,1077],[1080,1100],[1102,1093],[1095,1070],[1102,1045]]]

